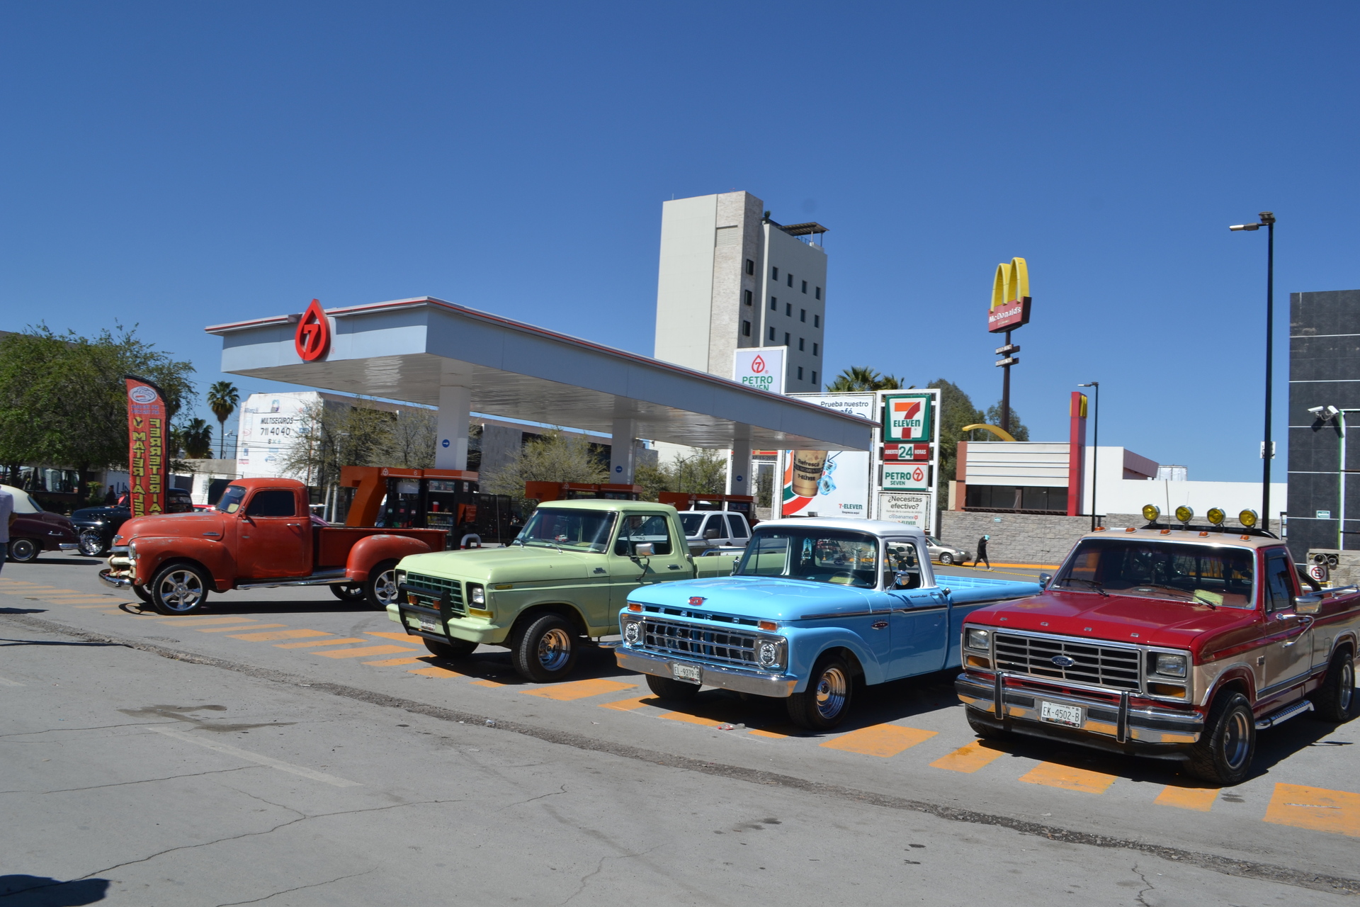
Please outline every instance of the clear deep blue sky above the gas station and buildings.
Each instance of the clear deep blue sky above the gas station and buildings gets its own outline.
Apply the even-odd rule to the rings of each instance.
[[[661,201],[831,233],[827,362],[1000,397],[1191,479],[1277,480],[1288,294],[1360,286],[1353,4],[8,4],[0,329],[434,295],[650,354]],[[282,389],[237,379],[242,392]],[[1325,401],[1319,401],[1325,403]],[[207,415],[207,408],[203,408]]]

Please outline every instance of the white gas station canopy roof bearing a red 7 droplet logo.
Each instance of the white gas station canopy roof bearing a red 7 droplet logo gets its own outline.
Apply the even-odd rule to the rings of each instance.
[[[305,362],[301,314],[214,325],[222,371],[692,447],[869,450],[873,423],[813,403],[430,296],[325,313]],[[443,389],[443,393],[441,393]],[[631,472],[631,469],[630,469]]]

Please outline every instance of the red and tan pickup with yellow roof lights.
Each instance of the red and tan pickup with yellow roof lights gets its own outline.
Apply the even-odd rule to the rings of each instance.
[[[1257,732],[1352,715],[1360,590],[1219,526],[1096,530],[1044,592],[974,611],[955,688],[979,737],[1039,736],[1247,778]]]

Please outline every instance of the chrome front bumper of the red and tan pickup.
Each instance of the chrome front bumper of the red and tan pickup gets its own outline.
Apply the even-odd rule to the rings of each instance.
[[[1005,677],[1005,674],[1002,674]],[[997,710],[997,689],[1001,688],[1002,707]],[[1123,696],[1118,706],[1100,699],[1074,696],[1069,692],[1043,692],[1032,688],[1017,689],[996,681],[959,674],[955,692],[964,706],[972,708],[972,718],[994,723],[1021,734],[1085,742],[1121,752],[1178,751],[1200,740],[1204,719],[1194,713],[1170,708],[1132,708]],[[1081,728],[1043,721],[1042,702],[1081,708]]]

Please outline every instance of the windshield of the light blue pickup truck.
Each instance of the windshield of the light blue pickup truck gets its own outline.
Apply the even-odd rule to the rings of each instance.
[[[790,577],[858,589],[876,587],[879,540],[815,528],[756,529],[737,577]]]

